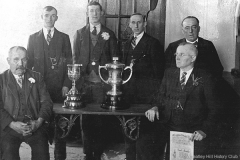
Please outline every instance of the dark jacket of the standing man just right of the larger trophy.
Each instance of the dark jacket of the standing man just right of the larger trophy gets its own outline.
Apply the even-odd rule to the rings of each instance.
[[[132,38],[123,47],[122,63],[129,66],[131,60],[135,59],[132,77],[123,85],[124,92],[131,103],[149,103],[152,93],[163,77],[165,62],[163,47],[157,39],[147,33],[144,33],[134,50],[131,41]],[[124,73],[124,79],[128,77],[127,73]]]

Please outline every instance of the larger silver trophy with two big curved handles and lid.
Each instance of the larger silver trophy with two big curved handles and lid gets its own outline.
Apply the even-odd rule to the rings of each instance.
[[[122,92],[119,90],[119,86],[127,83],[132,76],[132,65],[125,67],[125,64],[119,63],[118,57],[113,57],[113,63],[105,64],[105,66],[99,66],[99,76],[103,82],[110,84],[112,89],[106,93],[105,102],[101,104],[102,108],[110,110],[120,110],[129,107],[122,98]],[[104,80],[101,75],[101,69],[108,71],[108,79]],[[124,70],[130,69],[130,75],[127,80],[122,79],[122,73]]]

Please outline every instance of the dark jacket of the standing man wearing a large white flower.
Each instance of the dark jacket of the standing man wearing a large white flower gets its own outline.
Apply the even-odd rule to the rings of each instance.
[[[109,34],[109,39],[102,37],[104,32]],[[73,40],[73,63],[82,64],[81,70],[83,73],[86,73],[87,66],[90,63],[91,43],[90,25],[88,24],[77,30]],[[117,39],[113,31],[101,25],[101,31],[92,52],[100,54],[97,56],[100,65],[112,62],[112,57],[118,56]],[[95,67],[98,68],[98,63]]]

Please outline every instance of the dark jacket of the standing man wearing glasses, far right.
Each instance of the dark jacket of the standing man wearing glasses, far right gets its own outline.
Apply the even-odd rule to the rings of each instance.
[[[166,68],[176,67],[175,53],[178,45],[181,42],[185,42],[184,39],[180,39],[173,43],[170,43],[165,51]],[[195,68],[201,68],[207,72],[212,73],[215,76],[222,76],[223,66],[218,57],[217,51],[211,41],[198,37],[198,56],[195,62]]]

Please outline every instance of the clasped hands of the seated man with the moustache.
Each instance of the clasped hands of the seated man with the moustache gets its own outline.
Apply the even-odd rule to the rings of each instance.
[[[27,123],[23,123],[19,121],[11,122],[9,124],[9,127],[12,128],[17,133],[22,134],[23,136],[32,134],[31,125],[28,125]]]

